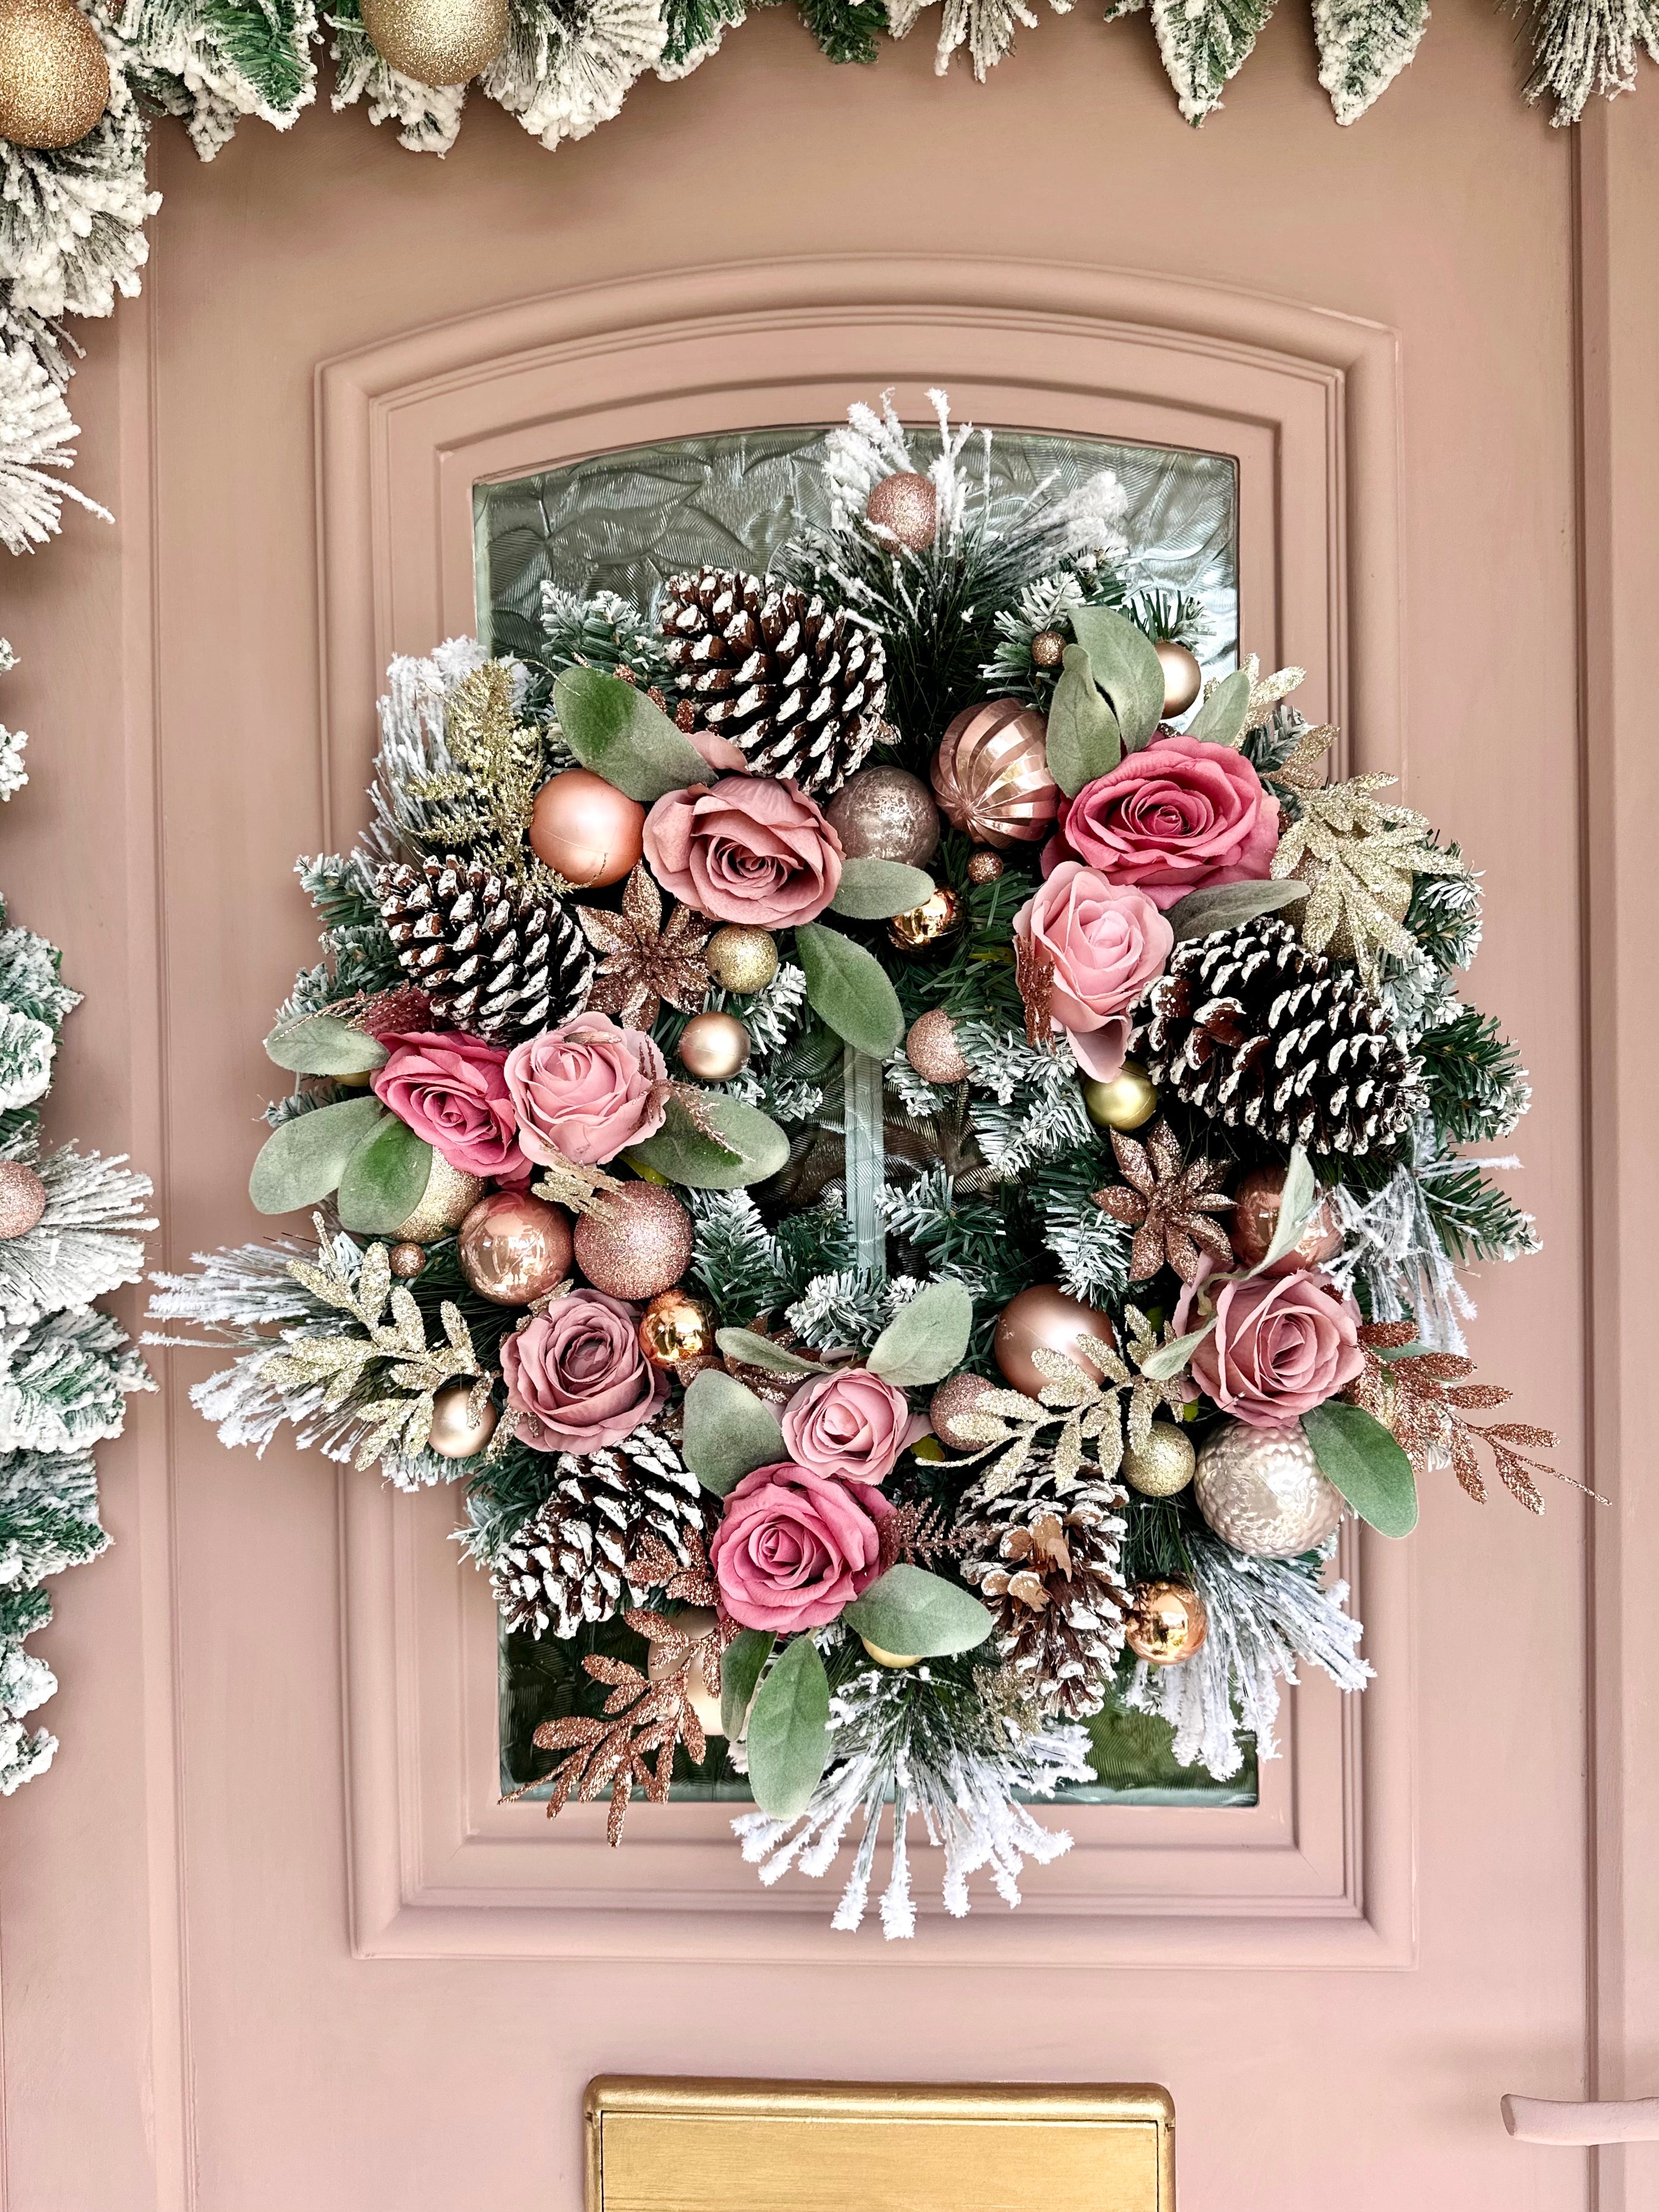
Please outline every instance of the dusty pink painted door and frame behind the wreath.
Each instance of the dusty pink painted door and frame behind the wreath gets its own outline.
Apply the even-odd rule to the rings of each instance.
[[[62,1110],[157,1166],[159,1263],[254,1234],[292,858],[358,818],[387,657],[471,628],[476,482],[887,383],[1221,451],[1245,650],[1486,872],[1548,1256],[1478,1283],[1475,1349],[1619,1502],[1436,1486],[1409,1548],[1352,1542],[1378,1681],[1305,1683],[1259,1805],[1084,1807],[1020,1913],[885,1947],[761,1896],[719,1807],[619,1856],[500,1807],[453,1498],[228,1455],[173,1356],[51,1637],[66,1747],[0,1825],[20,2212],[571,2212],[602,2070],[1161,2081],[1188,2212],[1659,2205],[1659,2152],[1597,2179],[1498,2119],[1659,2086],[1624,1504],[1659,108],[1551,133],[1453,7],[1343,133],[1285,15],[1192,135],[1104,38],[1046,22],[978,88],[763,15],[557,159],[493,108],[442,164],[325,113],[212,168],[161,139],[150,285],[77,387],[122,526],[18,580],[15,635],[73,641],[15,885],[100,1009]]]

